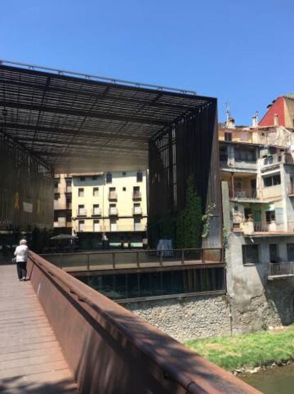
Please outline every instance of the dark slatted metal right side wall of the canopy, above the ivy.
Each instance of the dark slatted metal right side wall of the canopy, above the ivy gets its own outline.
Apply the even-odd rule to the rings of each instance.
[[[149,140],[149,212],[160,223],[186,203],[191,178],[201,197],[202,212],[214,206],[208,247],[222,247],[222,199],[219,188],[217,100],[210,99]],[[156,240],[157,241],[157,240]]]

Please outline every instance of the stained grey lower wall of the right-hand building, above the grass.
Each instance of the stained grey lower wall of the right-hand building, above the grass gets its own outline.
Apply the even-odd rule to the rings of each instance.
[[[252,240],[254,242],[252,242]],[[294,321],[294,279],[268,281],[269,244],[278,244],[281,262],[288,260],[293,236],[244,238],[231,233],[227,249],[227,287],[232,308],[232,331],[256,331]],[[242,245],[257,244],[259,262],[243,264]]]

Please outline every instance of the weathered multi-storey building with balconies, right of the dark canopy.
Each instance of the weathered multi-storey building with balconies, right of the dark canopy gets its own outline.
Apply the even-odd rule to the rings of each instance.
[[[294,320],[292,130],[219,127],[232,332]]]

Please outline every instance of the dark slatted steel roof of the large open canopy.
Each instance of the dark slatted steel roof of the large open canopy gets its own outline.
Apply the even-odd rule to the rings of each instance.
[[[56,172],[146,169],[150,139],[215,102],[187,90],[0,60],[0,132]]]

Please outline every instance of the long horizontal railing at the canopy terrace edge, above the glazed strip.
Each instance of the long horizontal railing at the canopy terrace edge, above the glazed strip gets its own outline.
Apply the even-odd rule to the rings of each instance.
[[[55,253],[42,255],[68,271],[116,270],[126,268],[168,267],[173,265],[224,262],[220,248],[173,250],[107,250],[99,252]]]

